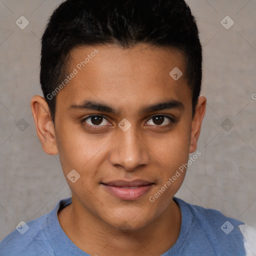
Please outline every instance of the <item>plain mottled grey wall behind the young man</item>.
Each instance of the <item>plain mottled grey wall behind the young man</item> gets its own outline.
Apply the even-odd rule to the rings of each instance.
[[[0,239],[70,196],[58,156],[43,152],[30,111],[30,98],[41,94],[40,36],[60,2],[0,0]],[[256,226],[256,1],[187,3],[200,31],[208,101],[202,154],[177,196]],[[24,29],[15,24],[21,15],[29,21]],[[234,21],[229,29],[220,23],[226,15]]]

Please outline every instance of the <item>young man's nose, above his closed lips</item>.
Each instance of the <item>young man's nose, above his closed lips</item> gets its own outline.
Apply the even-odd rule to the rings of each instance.
[[[146,146],[143,136],[131,126],[128,130],[118,130],[109,161],[116,167],[123,167],[125,170],[134,170],[140,165],[149,163],[149,148]]]

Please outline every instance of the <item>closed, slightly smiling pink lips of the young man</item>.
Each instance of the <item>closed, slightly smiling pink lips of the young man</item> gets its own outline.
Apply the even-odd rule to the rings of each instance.
[[[152,186],[153,182],[135,179],[127,180],[113,180],[109,182],[100,183],[111,195],[122,200],[135,200],[146,194]]]

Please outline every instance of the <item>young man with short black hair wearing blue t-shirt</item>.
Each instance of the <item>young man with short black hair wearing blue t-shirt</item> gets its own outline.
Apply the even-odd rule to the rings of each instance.
[[[174,197],[189,153],[200,154],[201,62],[183,0],[61,3],[31,109],[72,197],[4,238],[1,255],[253,253],[251,227]]]

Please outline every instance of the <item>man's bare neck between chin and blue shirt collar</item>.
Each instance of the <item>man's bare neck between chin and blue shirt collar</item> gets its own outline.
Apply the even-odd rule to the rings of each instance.
[[[106,224],[72,198],[72,203],[58,212],[59,223],[81,250],[91,255],[160,255],[177,240],[181,212],[172,200],[148,225],[138,230],[122,230]],[[128,225],[128,224],[127,224]]]

